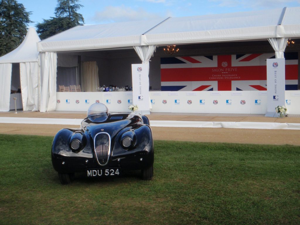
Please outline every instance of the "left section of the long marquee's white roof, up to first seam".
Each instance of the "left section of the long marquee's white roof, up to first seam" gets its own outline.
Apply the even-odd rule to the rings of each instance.
[[[100,49],[140,45],[143,32],[161,19],[76,26],[38,43],[40,52]]]

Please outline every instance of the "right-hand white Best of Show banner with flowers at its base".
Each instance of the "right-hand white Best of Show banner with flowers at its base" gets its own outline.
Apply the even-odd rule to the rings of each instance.
[[[267,113],[277,117],[275,107],[285,105],[285,59],[267,59]]]

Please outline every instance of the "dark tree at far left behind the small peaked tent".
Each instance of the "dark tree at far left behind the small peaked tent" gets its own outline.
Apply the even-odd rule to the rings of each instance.
[[[24,40],[31,12],[16,0],[0,1],[0,56],[11,52]]]

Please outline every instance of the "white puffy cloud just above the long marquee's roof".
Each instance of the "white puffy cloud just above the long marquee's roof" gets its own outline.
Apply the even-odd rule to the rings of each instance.
[[[143,8],[133,9],[125,5],[121,6],[107,6],[102,11],[98,11],[93,16],[93,20],[99,22],[124,22],[124,21],[138,21],[156,18],[165,18],[165,16],[157,13],[149,13]]]

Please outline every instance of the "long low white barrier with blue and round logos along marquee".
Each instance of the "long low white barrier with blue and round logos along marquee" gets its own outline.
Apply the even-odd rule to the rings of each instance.
[[[265,114],[267,91],[149,91],[153,113]],[[300,91],[285,91],[287,113],[300,115]],[[87,111],[99,101],[110,112],[130,112],[132,92],[57,92],[56,111]],[[275,109],[274,109],[275,110]]]

